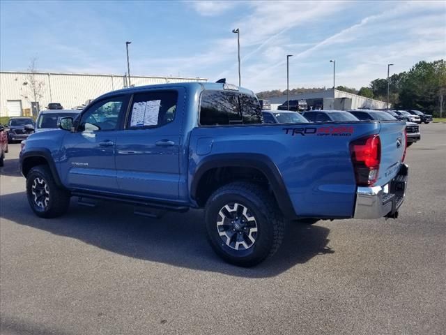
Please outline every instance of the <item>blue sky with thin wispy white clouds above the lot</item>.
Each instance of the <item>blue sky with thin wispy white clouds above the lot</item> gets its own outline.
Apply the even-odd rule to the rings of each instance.
[[[446,59],[446,1],[0,1],[0,68],[367,87]]]

